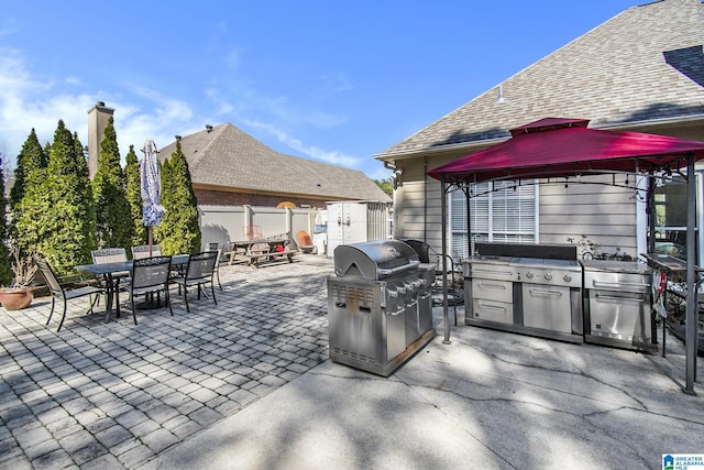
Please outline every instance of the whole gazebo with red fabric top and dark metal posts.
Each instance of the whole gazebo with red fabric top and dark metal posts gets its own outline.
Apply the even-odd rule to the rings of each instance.
[[[696,371],[696,286],[694,253],[694,163],[704,142],[641,132],[587,129],[586,119],[544,118],[510,130],[505,142],[426,172],[446,186],[486,181],[570,177],[605,173],[656,173],[686,167],[686,393],[694,393]],[[469,194],[468,194],[469,197]],[[442,269],[447,273],[447,203],[442,204]],[[469,211],[468,211],[469,216]],[[468,217],[469,218],[469,217]],[[471,227],[468,221],[468,230]],[[450,341],[448,283],[443,276],[444,341]]]

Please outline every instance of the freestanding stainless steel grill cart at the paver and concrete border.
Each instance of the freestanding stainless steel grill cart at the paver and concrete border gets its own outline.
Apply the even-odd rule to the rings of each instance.
[[[435,265],[398,240],[338,245],[328,277],[330,358],[388,376],[432,337]]]

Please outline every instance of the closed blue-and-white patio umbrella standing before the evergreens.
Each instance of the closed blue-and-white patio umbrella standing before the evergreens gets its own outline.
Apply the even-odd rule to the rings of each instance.
[[[142,192],[142,221],[147,228],[150,256],[152,255],[152,227],[158,226],[164,217],[162,197],[162,176],[160,172],[158,150],[153,140],[146,140],[142,147],[144,159],[140,162],[140,186]]]

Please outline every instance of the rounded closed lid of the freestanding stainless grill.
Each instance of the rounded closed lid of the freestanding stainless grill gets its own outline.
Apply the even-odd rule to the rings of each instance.
[[[418,253],[400,240],[341,244],[334,249],[334,273],[340,277],[380,281],[419,264]]]

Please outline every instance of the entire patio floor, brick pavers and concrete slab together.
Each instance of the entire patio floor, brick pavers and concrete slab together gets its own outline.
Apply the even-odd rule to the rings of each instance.
[[[384,379],[328,358],[332,262],[221,269],[223,292],[109,324],[0,310],[0,468],[661,468],[704,452],[704,364],[451,327]],[[463,311],[458,309],[460,317]],[[661,337],[659,337],[661,338]]]

